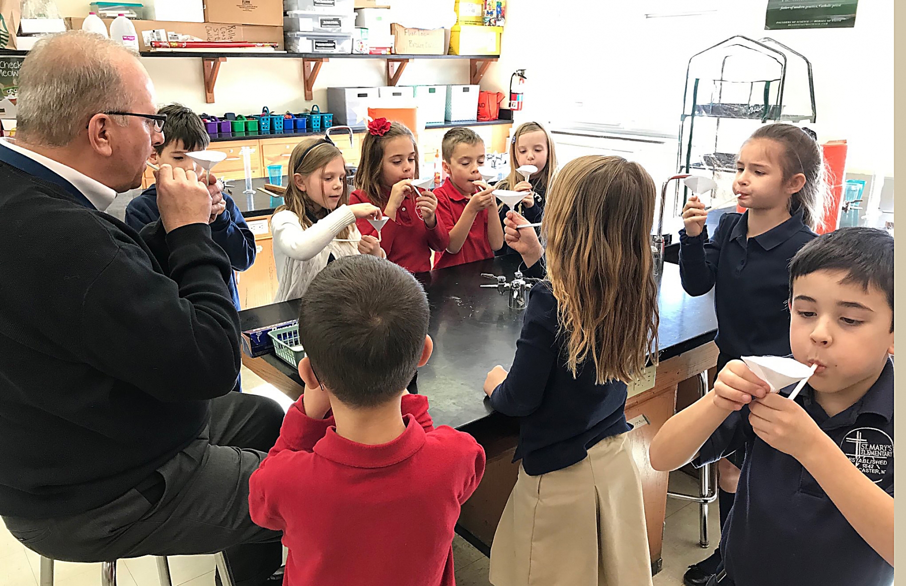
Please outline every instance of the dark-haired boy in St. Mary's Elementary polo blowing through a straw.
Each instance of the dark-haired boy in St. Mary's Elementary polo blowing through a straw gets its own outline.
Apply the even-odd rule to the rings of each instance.
[[[817,365],[794,399],[732,360],[651,441],[651,466],[744,449],[710,584],[893,581],[893,237],[821,235],[790,264],[790,345]]]

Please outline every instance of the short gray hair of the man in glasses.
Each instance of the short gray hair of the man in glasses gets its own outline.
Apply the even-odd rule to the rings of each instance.
[[[128,110],[118,61],[136,53],[100,34],[67,31],[34,43],[19,70],[16,133],[25,142],[64,147],[98,112]],[[121,125],[124,117],[116,117]]]

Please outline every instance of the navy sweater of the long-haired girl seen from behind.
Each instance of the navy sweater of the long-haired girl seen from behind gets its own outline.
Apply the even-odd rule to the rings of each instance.
[[[543,272],[539,262],[526,274]],[[490,398],[496,411],[521,418],[514,461],[522,458],[530,476],[572,466],[603,438],[631,429],[623,412],[625,383],[596,384],[591,360],[579,366],[573,379],[566,367],[566,343],[557,330],[550,283],[538,283],[529,292],[513,368]]]

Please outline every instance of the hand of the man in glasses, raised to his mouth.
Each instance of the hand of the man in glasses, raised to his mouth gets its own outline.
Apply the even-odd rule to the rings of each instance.
[[[195,171],[161,165],[154,173],[158,186],[158,208],[164,230],[189,224],[207,224],[211,218],[211,194],[198,181]]]

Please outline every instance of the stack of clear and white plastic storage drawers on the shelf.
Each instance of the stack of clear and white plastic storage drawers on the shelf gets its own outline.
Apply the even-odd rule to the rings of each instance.
[[[290,53],[352,53],[354,0],[284,0],[284,41]]]

